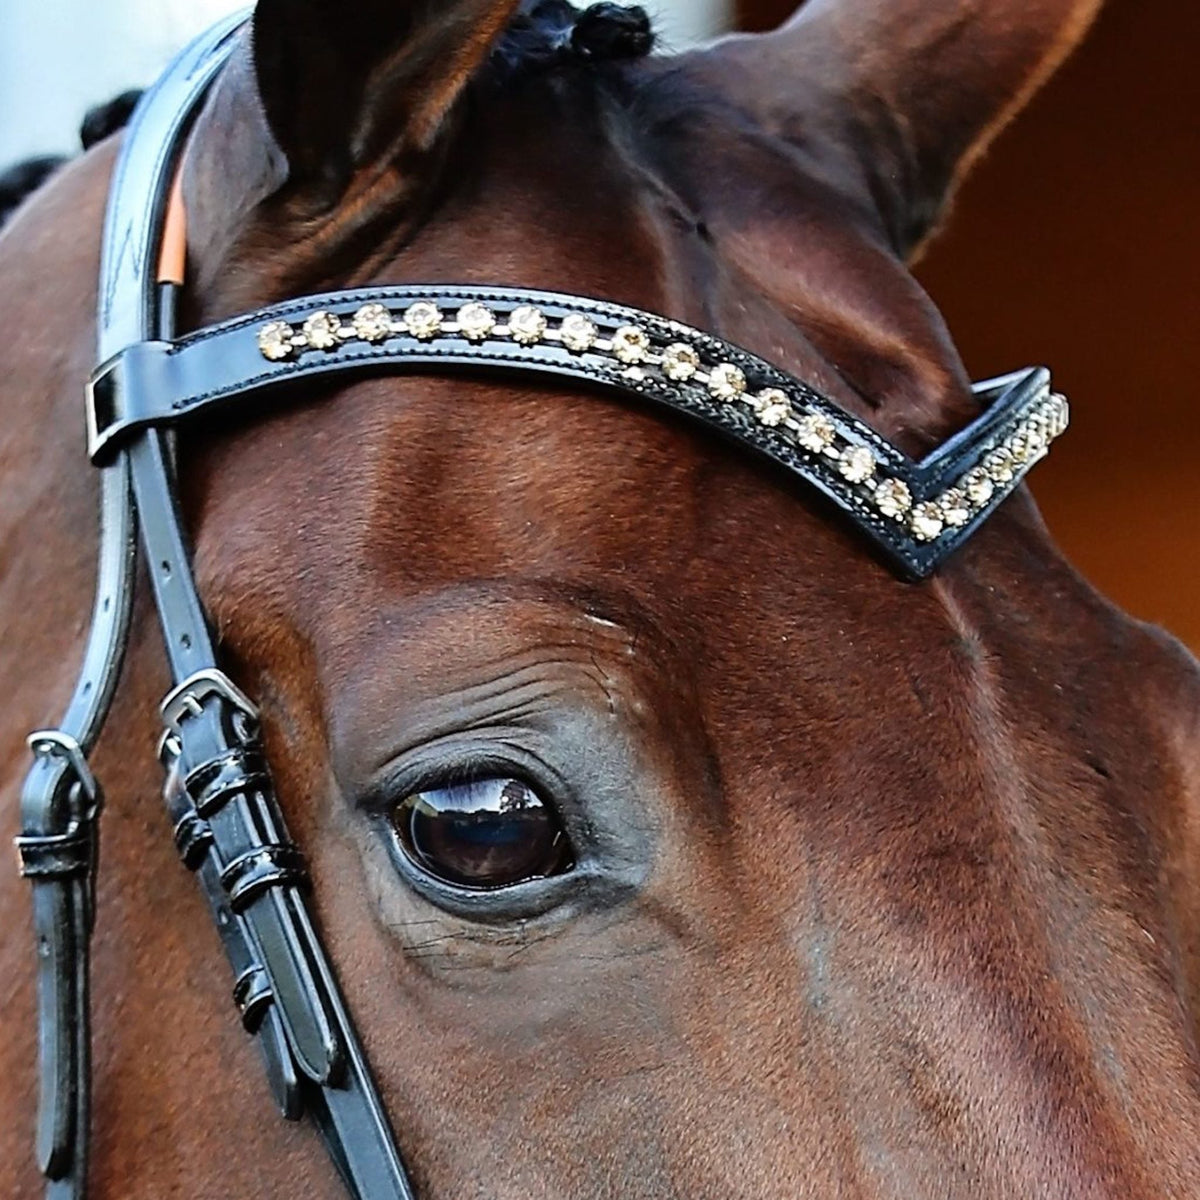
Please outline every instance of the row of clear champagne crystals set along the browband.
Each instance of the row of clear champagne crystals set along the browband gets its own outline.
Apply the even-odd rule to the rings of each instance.
[[[391,337],[415,337],[431,342],[458,337],[468,342],[511,340],[518,346],[560,344],[572,354],[613,358],[631,382],[658,370],[672,383],[701,385],[726,403],[746,406],[760,425],[787,431],[794,442],[814,456],[829,460],[846,482],[862,490],[864,498],[884,517],[907,526],[918,541],[936,541],[944,533],[961,528],[991,502],[998,487],[1010,484],[1026,464],[1040,458],[1049,444],[1066,428],[1069,419],[1062,396],[1048,394],[1016,431],[995,446],[954,486],[932,500],[913,503],[908,485],[880,475],[880,461],[862,443],[848,440],[823,413],[798,410],[787,392],[779,388],[751,390],[745,372],[733,362],[706,365],[695,347],[673,342],[656,349],[649,334],[637,325],[623,325],[605,337],[590,317],[570,313],[552,324],[535,305],[521,305],[506,319],[491,308],[470,301],[454,317],[428,300],[410,304],[397,318],[386,305],[365,304],[348,319],[336,313],[312,313],[298,330],[288,322],[275,320],[258,334],[258,347],[271,362],[283,362],[305,350],[335,350],[346,342],[378,344]]]

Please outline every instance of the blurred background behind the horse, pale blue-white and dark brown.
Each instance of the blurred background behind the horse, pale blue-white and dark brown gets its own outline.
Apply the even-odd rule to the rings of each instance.
[[[0,0],[0,167],[74,149],[226,0]],[[796,0],[649,0],[671,46]],[[971,372],[1052,367],[1072,433],[1033,476],[1068,554],[1200,650],[1200,5],[1109,0],[1001,139],[918,274]]]

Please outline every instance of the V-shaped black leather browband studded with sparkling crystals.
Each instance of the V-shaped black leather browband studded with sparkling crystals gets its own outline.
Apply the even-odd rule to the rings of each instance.
[[[668,404],[824,493],[899,565],[931,574],[1062,434],[1067,401],[1032,368],[977,384],[979,419],[914,462],[808,384],[720,338],[619,305],[504,288],[368,288],[146,342],[89,389],[90,451],[289,379],[421,366],[587,380]]]

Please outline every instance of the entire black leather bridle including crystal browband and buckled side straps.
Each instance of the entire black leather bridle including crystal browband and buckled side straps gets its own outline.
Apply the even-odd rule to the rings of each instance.
[[[85,1193],[89,940],[102,796],[88,766],[130,636],[138,533],[174,689],[161,757],[175,842],[208,899],[283,1115],[312,1116],[349,1193],[413,1196],[395,1138],[310,917],[304,858],[263,758],[258,710],[218,668],[180,521],[168,434],[293,380],[413,368],[521,372],[616,391],[698,419],[816,488],[899,575],[928,577],[1020,484],[1068,421],[1049,373],[977,384],[982,415],[914,462],[808,384],[709,334],[620,305],[520,288],[361,288],[307,296],[176,337],[178,160],[241,17],[188,47],[144,96],[104,230],[100,359],[88,389],[101,468],[91,631],[71,703],[32,734],[22,871],[38,944],[37,1157],[55,1200]],[[158,270],[154,269],[156,252]]]

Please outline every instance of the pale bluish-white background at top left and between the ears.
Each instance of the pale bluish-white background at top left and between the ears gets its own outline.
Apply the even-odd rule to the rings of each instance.
[[[643,2],[667,47],[720,32],[730,10],[728,0]],[[0,169],[30,155],[73,152],[88,108],[145,85],[188,37],[241,7],[230,0],[0,0]]]

